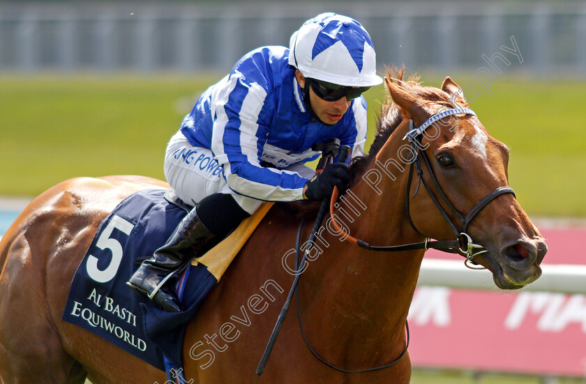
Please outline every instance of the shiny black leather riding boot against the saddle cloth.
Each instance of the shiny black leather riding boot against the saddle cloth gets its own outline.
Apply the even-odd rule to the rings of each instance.
[[[165,245],[157,249],[152,258],[142,262],[126,285],[149,297],[165,311],[179,312],[179,298],[171,287],[165,286],[165,277],[209,251],[220,240],[204,226],[194,208],[181,220]]]

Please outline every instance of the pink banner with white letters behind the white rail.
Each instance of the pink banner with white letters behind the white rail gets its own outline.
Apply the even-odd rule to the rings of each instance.
[[[547,265],[585,264],[577,250],[586,226],[536,224],[548,242]],[[423,264],[430,259],[465,268],[460,256],[430,250]],[[446,286],[421,286],[420,276],[408,317],[414,367],[586,376],[585,292],[499,291],[489,272],[471,273],[491,288],[453,288],[460,284],[450,276]]]

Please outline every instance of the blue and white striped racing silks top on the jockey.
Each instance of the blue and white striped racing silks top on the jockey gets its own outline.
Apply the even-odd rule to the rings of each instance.
[[[320,153],[314,144],[339,138],[363,154],[366,100],[356,98],[338,123],[327,126],[307,111],[285,47],[246,54],[220,82],[200,96],[181,132],[195,147],[209,148],[234,193],[266,201],[303,199],[308,179],[283,170]],[[269,167],[263,167],[261,164]]]

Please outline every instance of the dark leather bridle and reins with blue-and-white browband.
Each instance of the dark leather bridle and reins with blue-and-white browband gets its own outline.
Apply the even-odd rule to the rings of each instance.
[[[421,237],[426,237],[425,235],[423,235],[421,233],[421,231],[419,231],[419,229],[416,228],[415,224],[413,223],[413,221],[411,219],[410,203],[409,203],[410,202],[410,191],[411,191],[411,184],[412,184],[412,179],[413,179],[413,172],[414,172],[414,170],[416,170],[417,177],[419,178],[419,180],[417,183],[415,193],[413,194],[411,199],[415,198],[415,195],[419,191],[419,186],[421,186],[421,184],[423,184],[423,186],[428,191],[428,195],[430,196],[431,200],[433,201],[435,207],[437,207],[437,210],[440,212],[440,214],[444,218],[444,221],[446,221],[446,223],[450,227],[451,231],[456,236],[456,240],[430,240],[429,238],[426,237],[425,242],[403,244],[403,245],[396,245],[396,246],[372,246],[372,245],[368,244],[367,242],[364,242],[361,239],[356,239],[356,238],[352,237],[351,235],[345,233],[343,231],[343,229],[340,228],[340,226],[338,225],[336,220],[334,219],[334,212],[333,212],[334,205],[335,205],[336,200],[338,198],[337,189],[334,190],[334,193],[333,193],[332,199],[331,199],[331,204],[330,204],[330,214],[331,214],[331,218],[332,218],[331,221],[333,223],[333,226],[336,228],[336,230],[338,230],[340,233],[343,233],[345,236],[347,236],[347,240],[349,240],[350,242],[353,242],[354,244],[360,246],[363,249],[368,249],[369,251],[392,252],[392,251],[410,251],[410,250],[414,250],[414,249],[425,249],[425,250],[437,249],[438,251],[443,251],[443,252],[460,253],[461,255],[465,256],[466,259],[465,259],[464,263],[467,267],[469,267],[471,269],[484,269],[484,267],[473,267],[469,263],[477,265],[474,262],[474,257],[479,256],[482,253],[486,253],[486,252],[488,252],[488,250],[486,250],[480,244],[474,243],[474,241],[472,240],[472,237],[470,237],[470,235],[468,235],[466,231],[467,231],[468,226],[469,226],[470,222],[472,221],[472,219],[474,219],[474,217],[484,207],[486,207],[486,205],[488,205],[488,203],[495,200],[495,198],[497,198],[499,195],[503,195],[504,193],[511,193],[513,196],[515,196],[515,191],[513,191],[513,189],[511,189],[511,187],[509,187],[509,186],[499,186],[497,189],[488,193],[488,195],[486,195],[482,200],[480,200],[478,202],[478,204],[476,204],[474,206],[474,208],[472,208],[472,210],[466,216],[464,216],[463,214],[458,212],[458,210],[455,207],[453,207],[453,204],[450,202],[449,198],[446,196],[446,194],[442,190],[442,187],[437,182],[437,178],[435,177],[435,174],[433,172],[433,168],[431,168],[431,164],[429,162],[429,159],[426,156],[425,151],[423,150],[423,145],[421,144],[421,140],[423,138],[423,133],[426,130],[426,128],[431,126],[436,121],[438,121],[444,117],[452,116],[452,115],[476,116],[476,113],[474,113],[473,110],[470,110],[468,108],[453,108],[451,110],[445,110],[443,112],[440,112],[440,113],[433,115],[427,121],[425,121],[423,124],[421,124],[421,126],[419,126],[417,128],[414,127],[412,120],[409,121],[411,129],[407,133],[407,135],[405,135],[405,137],[403,139],[407,138],[407,140],[410,141],[410,144],[412,147],[412,152],[415,155],[414,156],[415,158],[413,159],[413,161],[410,164],[409,177],[407,179],[407,192],[405,193],[405,209],[407,210],[407,217],[409,218],[409,223],[412,226],[412,228],[417,233],[419,233],[419,235],[421,235]],[[458,221],[460,222],[460,228],[462,228],[461,230],[458,230],[458,227],[456,226],[456,224],[453,223],[448,212],[446,212],[446,209],[444,209],[444,207],[440,204],[440,201],[433,193],[428,182],[426,182],[426,179],[423,177],[423,168],[421,167],[421,159],[423,159],[423,163],[425,163],[425,165],[426,165],[426,168],[427,168],[428,173],[430,175],[431,184],[433,184],[433,186],[435,187],[435,190],[439,193],[440,198],[445,202],[445,204],[447,205],[448,209],[451,211],[453,216],[456,216],[456,219],[458,219]]]

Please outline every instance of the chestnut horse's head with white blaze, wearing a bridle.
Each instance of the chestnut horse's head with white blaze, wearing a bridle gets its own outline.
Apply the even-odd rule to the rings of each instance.
[[[509,149],[474,112],[457,113],[469,105],[449,77],[441,90],[400,77],[389,72],[385,79],[393,103],[383,107],[381,131],[395,120],[393,138],[410,132],[399,156],[410,163],[403,186],[412,227],[424,237],[459,236],[469,261],[490,269],[499,288],[531,283],[541,275],[547,246],[508,188]],[[434,116],[425,131],[414,131]]]

